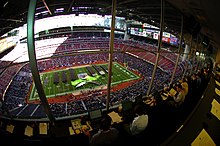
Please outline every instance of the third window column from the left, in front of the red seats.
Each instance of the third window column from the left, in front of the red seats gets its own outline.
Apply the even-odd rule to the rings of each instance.
[[[161,46],[162,46],[162,37],[163,37],[163,30],[164,30],[164,0],[161,0],[161,11],[160,11],[160,37],[158,38],[158,48],[157,48],[157,56],[156,56],[156,61],[154,63],[154,70],[152,73],[152,77],[151,77],[151,82],[147,91],[147,96],[149,96],[150,92],[151,92],[151,88],[154,82],[154,77],[156,74],[156,70],[157,70],[157,65],[158,65],[158,61],[159,61],[159,57],[160,57],[160,50],[161,50]]]

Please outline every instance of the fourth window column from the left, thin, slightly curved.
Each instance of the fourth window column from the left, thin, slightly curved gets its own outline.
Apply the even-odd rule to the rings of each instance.
[[[178,48],[178,54],[177,54],[177,58],[176,58],[176,64],[173,70],[173,74],[170,80],[170,85],[173,83],[173,78],[176,74],[176,69],[179,63],[179,58],[180,58],[180,49],[182,48],[182,38],[183,38],[183,16],[181,17],[181,34],[180,34],[180,44],[179,44],[179,48]]]

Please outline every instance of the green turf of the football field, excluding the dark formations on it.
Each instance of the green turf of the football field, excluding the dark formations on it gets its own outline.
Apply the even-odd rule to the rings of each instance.
[[[97,66],[106,66],[108,69],[108,64],[98,64]],[[41,82],[44,88],[44,92],[47,98],[53,98],[60,95],[65,95],[69,93],[79,92],[81,90],[87,90],[87,89],[95,89],[99,88],[101,86],[107,86],[108,82],[108,73],[105,73],[104,75],[100,75],[94,67],[92,67],[92,70],[96,73],[95,76],[90,75],[89,71],[86,67],[77,67],[74,68],[75,74],[84,74],[86,73],[86,78],[79,79],[78,81],[71,81],[70,79],[70,71],[69,69],[64,70],[56,70],[51,72],[46,72],[40,74]],[[62,82],[62,75],[61,72],[65,71],[67,74],[67,82]],[[102,70],[104,72],[104,70]],[[54,74],[55,72],[59,73],[59,83],[57,85],[54,84]],[[113,63],[112,65],[112,79],[111,79],[111,86],[128,82],[131,80],[138,79],[139,76],[134,74],[132,71],[126,69],[125,67],[121,66],[118,63]],[[77,87],[77,85],[82,85],[80,87]],[[39,99],[38,93],[36,91],[35,86],[33,85],[29,100],[37,100]]]

